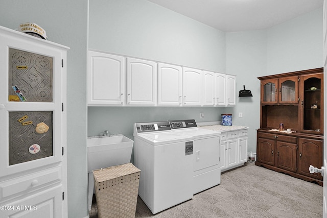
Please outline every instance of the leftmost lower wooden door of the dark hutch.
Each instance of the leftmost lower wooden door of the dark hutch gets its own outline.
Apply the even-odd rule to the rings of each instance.
[[[256,159],[261,163],[275,165],[275,141],[272,139],[258,138]]]

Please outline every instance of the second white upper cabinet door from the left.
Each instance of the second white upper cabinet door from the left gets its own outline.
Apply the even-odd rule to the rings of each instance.
[[[127,105],[156,105],[157,64],[127,58]]]

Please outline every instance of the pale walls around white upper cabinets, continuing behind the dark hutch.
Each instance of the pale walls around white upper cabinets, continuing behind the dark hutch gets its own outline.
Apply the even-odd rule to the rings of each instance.
[[[233,33],[147,1],[91,0],[89,13],[90,49],[237,75],[237,91],[245,85],[253,98],[237,98],[237,106],[227,108],[88,107],[88,136],[109,129],[131,137],[134,122],[217,121],[221,113],[232,113],[233,124],[250,127],[248,151],[255,152],[255,130],[260,128],[257,77],[322,66],[322,8],[269,29]]]

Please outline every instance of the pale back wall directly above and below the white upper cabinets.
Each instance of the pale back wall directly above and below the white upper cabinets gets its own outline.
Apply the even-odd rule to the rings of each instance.
[[[89,14],[90,49],[225,71],[222,31],[148,1],[91,0]],[[190,118],[206,122],[218,120],[223,111],[213,107],[88,107],[87,135],[108,129],[133,139],[135,122]]]

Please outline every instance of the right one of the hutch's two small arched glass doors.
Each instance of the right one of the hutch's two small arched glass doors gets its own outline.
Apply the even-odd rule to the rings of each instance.
[[[298,76],[278,79],[278,103],[298,104]]]

